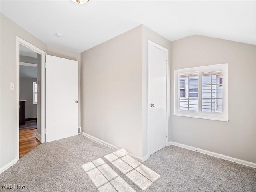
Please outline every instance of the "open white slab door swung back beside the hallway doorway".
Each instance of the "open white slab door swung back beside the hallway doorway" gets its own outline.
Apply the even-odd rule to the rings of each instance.
[[[46,56],[46,142],[78,134],[78,62]]]

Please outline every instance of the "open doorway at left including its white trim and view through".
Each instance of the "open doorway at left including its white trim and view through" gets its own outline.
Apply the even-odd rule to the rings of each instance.
[[[16,159],[45,142],[46,52],[17,37],[16,40]]]

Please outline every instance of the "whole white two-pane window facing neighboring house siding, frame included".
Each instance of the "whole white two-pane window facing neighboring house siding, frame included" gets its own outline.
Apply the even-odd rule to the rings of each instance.
[[[228,121],[228,64],[174,70],[174,115]]]

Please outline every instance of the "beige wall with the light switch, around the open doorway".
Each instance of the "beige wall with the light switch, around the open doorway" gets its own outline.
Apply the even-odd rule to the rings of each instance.
[[[1,136],[2,168],[16,158],[16,36],[46,51],[46,44],[12,22],[2,13],[1,18]],[[10,83],[15,90],[10,90]]]

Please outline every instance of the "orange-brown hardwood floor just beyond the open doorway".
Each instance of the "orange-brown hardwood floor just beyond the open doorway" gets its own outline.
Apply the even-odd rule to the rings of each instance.
[[[20,131],[20,158],[41,144],[36,138],[36,130]]]

